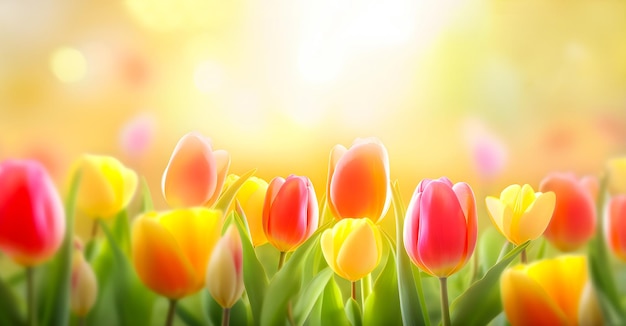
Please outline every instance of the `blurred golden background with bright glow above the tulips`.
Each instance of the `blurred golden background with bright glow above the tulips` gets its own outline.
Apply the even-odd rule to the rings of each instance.
[[[113,155],[165,208],[188,131],[320,198],[331,148],[375,136],[405,202],[440,176],[482,202],[626,152],[624,31],[624,1],[0,0],[0,159],[62,184]]]

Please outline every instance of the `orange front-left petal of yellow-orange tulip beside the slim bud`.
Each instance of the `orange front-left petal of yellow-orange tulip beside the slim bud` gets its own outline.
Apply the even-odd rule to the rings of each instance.
[[[172,233],[155,219],[156,213],[139,217],[132,229],[133,264],[143,283],[172,299],[190,294],[197,276]],[[158,272],[156,272],[158,271]]]

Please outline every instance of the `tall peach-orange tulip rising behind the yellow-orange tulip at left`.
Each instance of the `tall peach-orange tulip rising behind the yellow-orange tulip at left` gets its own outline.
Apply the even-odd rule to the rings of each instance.
[[[208,138],[197,132],[184,135],[163,172],[165,201],[173,208],[210,207],[222,191],[229,166],[228,152],[213,151]]]

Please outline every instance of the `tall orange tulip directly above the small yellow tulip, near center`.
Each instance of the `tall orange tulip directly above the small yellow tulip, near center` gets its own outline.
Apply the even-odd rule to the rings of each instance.
[[[337,219],[380,221],[391,200],[389,156],[380,140],[357,139],[350,149],[336,145],[330,153],[326,194]]]

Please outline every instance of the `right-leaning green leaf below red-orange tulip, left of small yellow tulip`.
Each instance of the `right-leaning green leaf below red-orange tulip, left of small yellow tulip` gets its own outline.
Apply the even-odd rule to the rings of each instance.
[[[319,246],[320,230],[318,229],[302,244],[272,278],[261,310],[261,325],[282,325],[285,323],[289,301],[300,291],[304,261],[313,246]]]

